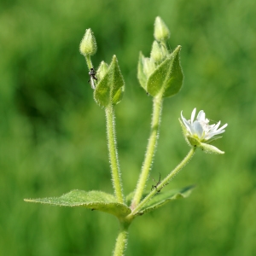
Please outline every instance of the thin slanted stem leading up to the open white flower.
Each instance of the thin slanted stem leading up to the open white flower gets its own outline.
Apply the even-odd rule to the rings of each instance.
[[[193,157],[193,155],[195,154],[195,149],[196,147],[193,147],[190,149],[189,154],[186,155],[186,157],[181,161],[180,164],[178,164],[176,166],[175,169],[172,170],[172,172],[170,172],[169,175],[167,175],[167,177],[165,179],[162,180],[162,182],[157,186],[157,189],[154,189],[153,191],[151,191],[144,199],[143,201],[141,201],[141,203],[131,212],[131,214],[136,214],[137,212],[139,212],[143,206],[156,194],[158,193],[158,191],[160,191],[161,189],[163,189],[171,180],[172,177],[174,177],[177,172],[179,172],[184,166],[186,166],[186,164],[189,162],[189,160]]]

